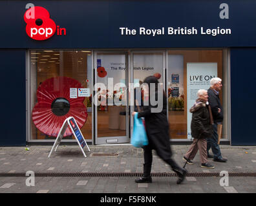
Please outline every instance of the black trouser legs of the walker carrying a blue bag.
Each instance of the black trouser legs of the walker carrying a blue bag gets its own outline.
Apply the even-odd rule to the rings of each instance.
[[[157,151],[156,151],[156,153],[157,153]],[[162,156],[160,156],[159,154],[158,154],[158,156],[162,160],[164,160],[162,158]],[[152,149],[150,147],[145,146],[144,147],[144,173],[143,173],[144,176],[149,176],[151,174],[152,160],[153,160]],[[171,169],[181,169],[180,166],[178,164],[176,164],[175,160],[173,160],[172,158],[164,160],[164,162],[169,164],[171,166]]]

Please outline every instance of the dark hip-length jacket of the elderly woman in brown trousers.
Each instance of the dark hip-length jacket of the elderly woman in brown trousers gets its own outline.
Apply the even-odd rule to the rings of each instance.
[[[197,100],[189,110],[192,113],[191,136],[193,138],[209,138],[213,135],[213,118],[209,109],[209,105]]]

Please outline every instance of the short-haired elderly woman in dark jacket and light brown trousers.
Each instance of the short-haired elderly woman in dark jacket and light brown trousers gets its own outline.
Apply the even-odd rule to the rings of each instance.
[[[191,136],[194,140],[183,159],[187,161],[187,164],[193,164],[192,160],[199,149],[201,167],[213,169],[215,167],[208,163],[206,151],[206,138],[211,137],[213,133],[213,117],[208,103],[208,93],[205,89],[199,89],[197,96],[198,99],[189,110],[192,113]]]

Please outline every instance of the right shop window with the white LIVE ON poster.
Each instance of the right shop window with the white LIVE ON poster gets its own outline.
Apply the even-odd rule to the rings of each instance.
[[[168,118],[172,139],[190,139],[189,109],[198,89],[208,89],[211,77],[222,79],[220,102],[224,108],[222,138],[228,138],[227,69],[223,50],[180,50],[168,52]],[[192,78],[192,79],[191,79]],[[194,78],[194,79],[193,79]],[[200,80],[198,78],[205,78]]]

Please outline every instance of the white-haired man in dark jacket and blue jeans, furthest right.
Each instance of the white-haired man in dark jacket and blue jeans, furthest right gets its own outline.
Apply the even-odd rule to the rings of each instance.
[[[219,77],[211,79],[211,87],[208,89],[209,105],[211,106],[211,113],[213,114],[213,136],[207,139],[208,158],[213,158],[215,162],[227,162],[226,158],[222,158],[220,147],[218,144],[218,124],[223,120],[223,109],[220,104],[219,91],[222,88],[222,80]],[[213,151],[213,155],[209,154],[209,149]]]

